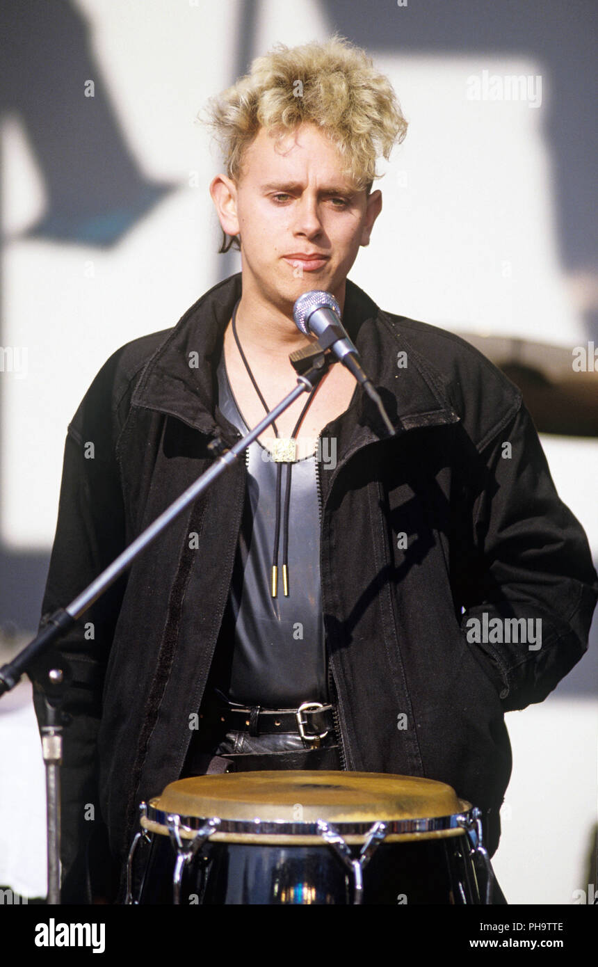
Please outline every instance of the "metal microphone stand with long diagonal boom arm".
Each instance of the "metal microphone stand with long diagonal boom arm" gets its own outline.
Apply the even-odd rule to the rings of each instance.
[[[311,393],[318,386],[328,367],[336,359],[316,341],[299,349],[289,357],[298,372],[297,386],[264,419],[242,437],[230,450],[221,440],[211,444],[217,456],[214,464],[206,470],[184,493],[181,494],[156,520],[135,538],[119,556],[100,573],[70,604],[58,608],[46,619],[42,630],[8,664],[0,668],[0,697],[19,681],[23,672],[31,670],[36,676],[36,686],[43,692],[45,724],[42,727],[43,761],[46,775],[47,798],[47,878],[46,903],[60,903],[60,766],[62,765],[62,742],[64,718],[61,706],[71,680],[69,663],[51,647],[53,642],[70,630],[82,614],[110,587],[123,571],[157,538],[185,507],[214,483],[221,473],[230,467],[254,440],[268,428],[281,413],[302,393]]]

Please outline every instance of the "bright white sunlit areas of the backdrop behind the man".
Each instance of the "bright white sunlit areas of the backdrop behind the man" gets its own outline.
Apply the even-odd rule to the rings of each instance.
[[[0,536],[21,550],[51,545],[66,427],[104,360],[128,339],[176,324],[224,267],[226,274],[238,269],[216,254],[208,185],[219,162],[194,118],[234,80],[242,3],[75,6],[89,18],[97,69],[140,170],[174,187],[109,249],[27,238],[47,204],[43,172],[18,115],[2,124],[3,340],[27,347],[28,370],[0,380]],[[289,5],[262,0],[251,56],[277,41],[330,33],[316,0],[292,7],[290,16]],[[587,292],[557,257],[557,185],[542,132],[551,98],[546,66],[521,54],[370,53],[391,77],[410,131],[384,165],[383,214],[351,278],[383,308],[448,329],[571,347],[584,341]],[[471,102],[468,78],[484,70],[541,74],[541,105]],[[598,445],[574,438],[544,444],[596,560]],[[0,715],[0,810],[27,814],[34,833],[16,847],[10,825],[0,822],[0,883],[36,895],[43,892],[41,764],[33,713],[20,694],[17,707]],[[586,889],[596,822],[598,702],[560,698],[557,689],[543,705],[510,714],[507,724],[515,764],[498,879],[511,902],[570,903],[574,890]]]

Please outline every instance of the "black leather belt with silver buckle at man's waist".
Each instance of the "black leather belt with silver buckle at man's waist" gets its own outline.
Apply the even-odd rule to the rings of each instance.
[[[202,710],[200,718],[207,723],[220,722],[227,731],[249,735],[293,733],[315,745],[334,729],[332,706],[321,702],[303,702],[299,709],[263,709],[214,705]]]

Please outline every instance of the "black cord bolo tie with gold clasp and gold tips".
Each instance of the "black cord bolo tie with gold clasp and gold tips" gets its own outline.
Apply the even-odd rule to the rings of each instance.
[[[233,309],[232,327],[233,336],[235,337],[235,342],[237,343],[237,348],[239,349],[239,354],[242,358],[243,365],[247,370],[249,379],[253,384],[253,388],[257,395],[260,397],[262,406],[267,413],[270,413],[268,404],[260,392],[260,388],[255,381],[255,377],[251,372],[251,368],[247,363],[245,354],[242,351],[241,342],[239,341],[239,336],[237,335],[237,309],[239,308],[239,303],[241,299]],[[274,462],[276,463],[276,516],[274,521],[274,547],[272,551],[272,570],[271,570],[271,597],[275,598],[278,590],[278,547],[280,543],[280,505],[281,505],[281,494],[282,494],[282,467],[283,464],[287,466],[287,479],[286,488],[284,495],[284,513],[282,518],[282,588],[285,598],[289,597],[289,509],[291,506],[291,470],[293,464],[297,459],[297,441],[295,435],[301,425],[303,417],[307,412],[307,408],[310,405],[317,387],[311,391],[307,397],[307,402],[305,403],[303,409],[299,414],[299,420],[295,425],[295,429],[290,437],[281,437],[278,434],[278,428],[275,423],[272,422],[271,427],[276,435],[274,440],[274,446],[272,450],[272,456]]]

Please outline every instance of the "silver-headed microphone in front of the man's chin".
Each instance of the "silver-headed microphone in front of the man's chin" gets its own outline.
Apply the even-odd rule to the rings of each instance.
[[[316,336],[323,349],[331,349],[336,359],[346,366],[363,387],[380,411],[384,425],[390,436],[394,427],[390,423],[384,404],[374,389],[370,378],[361,368],[356,346],[348,337],[340,321],[340,307],[329,292],[303,292],[293,307],[293,318],[299,333],[303,336]]]

